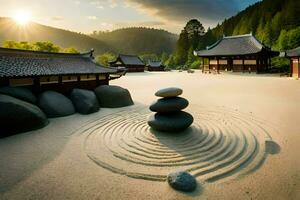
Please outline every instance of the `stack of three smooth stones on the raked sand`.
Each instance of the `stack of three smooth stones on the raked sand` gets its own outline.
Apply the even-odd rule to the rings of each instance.
[[[155,93],[155,96],[162,98],[150,106],[150,110],[156,112],[148,119],[152,129],[161,132],[181,132],[193,123],[193,116],[182,111],[189,105],[188,100],[178,97],[182,92],[180,88],[171,87]]]

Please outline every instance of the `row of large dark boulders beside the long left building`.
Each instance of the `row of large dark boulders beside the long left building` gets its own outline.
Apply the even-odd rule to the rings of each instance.
[[[36,97],[25,87],[0,88],[0,138],[42,128],[47,118],[65,117],[78,112],[95,113],[100,107],[132,105],[129,91],[119,86],[99,86],[95,91],[73,89],[70,94],[44,91]]]

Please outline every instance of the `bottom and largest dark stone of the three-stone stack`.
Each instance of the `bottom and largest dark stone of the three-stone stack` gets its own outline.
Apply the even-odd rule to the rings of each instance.
[[[157,131],[180,132],[187,129],[194,121],[189,113],[178,111],[172,113],[156,113],[148,119],[148,125]]]

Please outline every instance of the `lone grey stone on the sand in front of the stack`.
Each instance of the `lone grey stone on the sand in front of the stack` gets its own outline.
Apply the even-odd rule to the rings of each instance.
[[[196,189],[197,181],[188,172],[170,173],[167,177],[169,185],[175,190],[191,192]]]

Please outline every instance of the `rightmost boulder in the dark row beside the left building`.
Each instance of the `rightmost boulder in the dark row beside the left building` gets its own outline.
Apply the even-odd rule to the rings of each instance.
[[[102,85],[95,89],[100,107],[119,108],[133,105],[129,91],[125,88],[112,85]]]

